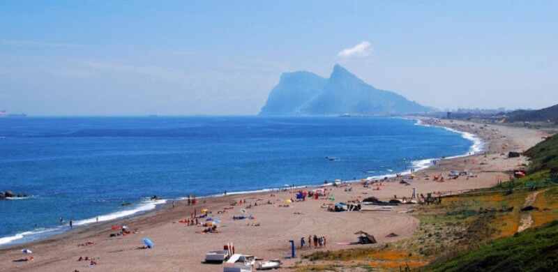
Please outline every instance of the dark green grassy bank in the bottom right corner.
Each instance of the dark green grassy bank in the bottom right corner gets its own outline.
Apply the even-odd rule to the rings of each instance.
[[[498,239],[423,271],[549,271],[558,267],[558,221]]]

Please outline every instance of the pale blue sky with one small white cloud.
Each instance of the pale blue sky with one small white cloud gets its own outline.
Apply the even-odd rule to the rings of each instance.
[[[257,114],[339,63],[437,107],[558,103],[558,1],[0,1],[0,110]]]

